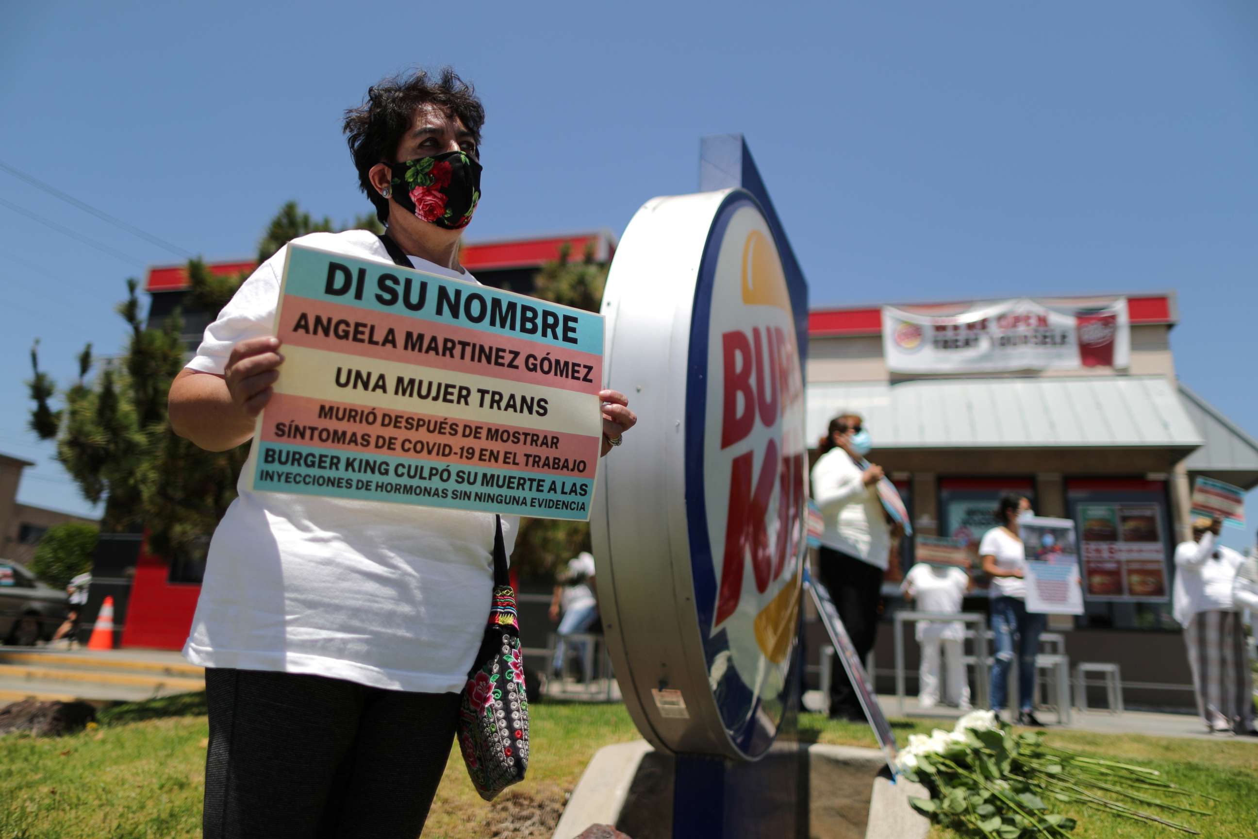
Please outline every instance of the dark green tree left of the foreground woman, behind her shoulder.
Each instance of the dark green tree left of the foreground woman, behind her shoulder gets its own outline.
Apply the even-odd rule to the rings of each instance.
[[[268,225],[259,257],[269,257],[287,238],[323,229],[331,229],[327,219],[313,223],[294,203],[286,204]],[[210,312],[221,309],[247,275],[215,277],[200,259],[189,262],[187,273],[192,306]],[[104,532],[147,530],[153,551],[174,555],[195,550],[226,512],[248,447],[204,452],[171,430],[166,394],[185,361],[182,322],[176,312],[161,328],[146,330],[137,288],[128,279],[127,299],[116,309],[130,331],[126,351],[99,364],[89,379],[96,365],[88,345],[59,410],[52,408],[57,387],[39,369],[35,342],[29,426],[40,439],[57,440],[57,459],[84,498],[104,501]]]

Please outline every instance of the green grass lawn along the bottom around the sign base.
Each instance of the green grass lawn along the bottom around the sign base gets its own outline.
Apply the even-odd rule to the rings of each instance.
[[[452,753],[425,836],[550,836],[594,752],[638,736],[618,704],[537,703],[531,712],[528,780],[499,796],[491,810],[472,789],[459,755]],[[905,740],[935,723],[893,725]],[[109,708],[98,727],[69,737],[0,737],[0,839],[199,836],[206,733],[205,697],[190,694]],[[800,733],[825,743],[873,745],[868,727],[816,714],[800,718]],[[1203,808],[1215,809],[1214,818],[1186,819],[1204,836],[1258,835],[1258,743],[1086,733],[1053,733],[1049,742],[1159,769],[1176,784],[1222,799]],[[502,829],[499,805],[509,809],[517,829]],[[1082,816],[1074,834],[1081,839],[1176,835],[1101,814],[1074,815]]]

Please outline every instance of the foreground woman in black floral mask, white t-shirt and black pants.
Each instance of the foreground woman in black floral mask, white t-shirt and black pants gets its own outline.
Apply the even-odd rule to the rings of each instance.
[[[476,283],[458,253],[481,199],[483,123],[449,68],[374,86],[343,130],[385,238],[294,242]],[[287,250],[244,282],[171,385],[171,425],[203,449],[249,442],[272,397]],[[637,418],[621,394],[600,399],[606,454]],[[214,533],[184,649],[206,668],[205,835],[414,839],[484,634],[498,517],[249,487],[243,477]],[[518,518],[501,528],[509,555]]]

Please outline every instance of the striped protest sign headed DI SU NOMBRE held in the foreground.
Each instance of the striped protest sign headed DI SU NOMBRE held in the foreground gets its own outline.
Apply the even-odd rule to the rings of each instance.
[[[603,317],[289,245],[255,492],[586,521]]]

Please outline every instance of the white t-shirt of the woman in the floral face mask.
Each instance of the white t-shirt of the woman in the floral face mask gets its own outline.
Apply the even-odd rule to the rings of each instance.
[[[365,230],[296,239],[390,262]],[[231,347],[273,335],[287,248],[205,330],[190,370],[223,374]],[[411,257],[414,265],[476,282]],[[257,457],[254,440],[242,475]],[[410,504],[249,492],[214,538],[184,655],[203,667],[312,673],[379,688],[458,692],[484,634],[494,517]],[[509,556],[520,520],[502,517]]]

